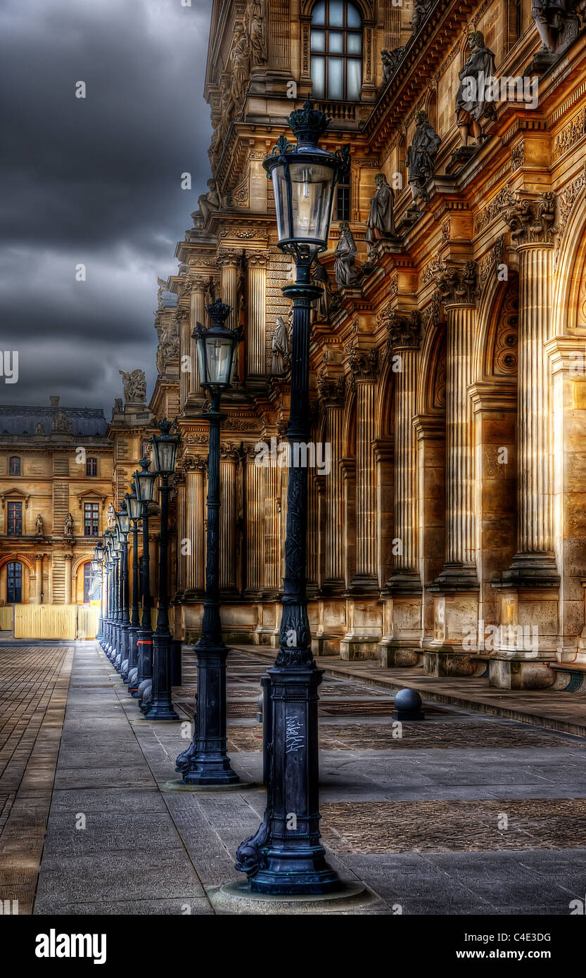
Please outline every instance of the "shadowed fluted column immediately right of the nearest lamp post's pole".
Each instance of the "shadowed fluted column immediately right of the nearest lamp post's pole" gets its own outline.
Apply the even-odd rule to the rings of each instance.
[[[326,371],[318,375],[318,394],[326,412],[324,427],[326,443],[330,446],[330,471],[326,479],[325,577],[324,591],[341,591],[344,587],[343,567],[343,484],[339,460],[342,456],[342,424],[345,404],[345,378],[330,378]]]

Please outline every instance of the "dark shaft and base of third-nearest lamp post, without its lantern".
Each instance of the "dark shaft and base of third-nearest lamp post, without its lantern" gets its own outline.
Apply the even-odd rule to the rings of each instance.
[[[149,720],[178,720],[171,702],[171,632],[168,602],[169,479],[160,477],[160,533],[158,540],[158,612],[153,636],[153,694],[145,716]]]

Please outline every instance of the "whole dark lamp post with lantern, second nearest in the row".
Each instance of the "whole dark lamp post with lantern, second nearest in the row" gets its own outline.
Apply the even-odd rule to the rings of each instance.
[[[192,744],[179,755],[177,770],[185,784],[230,784],[240,778],[230,767],[226,753],[226,657],[220,621],[220,426],[226,415],[220,412],[222,392],[230,385],[236,348],[241,330],[229,330],[225,323],[230,306],[216,299],[205,307],[211,325],[198,323],[193,335],[198,340],[200,382],[211,400],[205,418],[209,422],[207,468],[207,537],[205,600],[202,638],[198,653],[198,694],[196,729]]]

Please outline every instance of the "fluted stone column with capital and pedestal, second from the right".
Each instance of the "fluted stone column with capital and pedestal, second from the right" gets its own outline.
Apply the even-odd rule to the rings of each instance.
[[[446,553],[434,594],[433,639],[425,668],[429,675],[472,675],[476,664],[465,640],[475,629],[478,579],[474,545],[473,382],[476,342],[476,268],[473,261],[437,262],[435,281],[447,318],[446,383]]]

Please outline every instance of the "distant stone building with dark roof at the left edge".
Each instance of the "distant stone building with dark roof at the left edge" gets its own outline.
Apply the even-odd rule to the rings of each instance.
[[[0,604],[82,604],[113,501],[100,408],[0,406]]]

